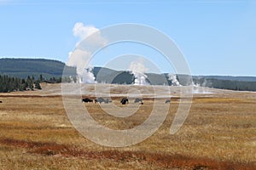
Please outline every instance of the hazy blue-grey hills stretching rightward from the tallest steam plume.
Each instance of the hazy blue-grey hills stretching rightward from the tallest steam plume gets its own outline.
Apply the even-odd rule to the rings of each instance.
[[[106,82],[115,84],[132,84],[135,77],[130,71],[114,71],[108,68],[95,67],[93,74],[96,82]],[[168,74],[145,73],[147,81],[152,85],[172,85]],[[189,77],[177,75],[177,80],[181,85],[188,85]],[[223,77],[223,76],[194,76],[193,82],[201,87],[220,88],[240,91],[256,91],[256,77]]]

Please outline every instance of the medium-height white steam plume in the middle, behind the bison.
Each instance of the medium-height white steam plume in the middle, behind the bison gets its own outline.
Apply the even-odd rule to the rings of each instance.
[[[147,81],[148,77],[144,74],[148,69],[143,65],[142,59],[140,61],[132,61],[129,70],[135,77],[135,85],[149,85]]]

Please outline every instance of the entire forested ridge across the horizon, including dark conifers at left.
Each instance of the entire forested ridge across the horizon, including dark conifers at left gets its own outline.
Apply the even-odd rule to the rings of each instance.
[[[62,80],[63,68],[68,74]],[[115,71],[104,67],[94,67],[92,73],[96,82],[132,84],[131,71]],[[168,74],[145,73],[152,85],[172,85]],[[177,75],[181,85],[187,85],[187,76]],[[0,92],[33,90],[40,82],[76,82],[76,69],[52,59],[0,59]],[[195,85],[240,91],[256,91],[256,77],[193,76]]]

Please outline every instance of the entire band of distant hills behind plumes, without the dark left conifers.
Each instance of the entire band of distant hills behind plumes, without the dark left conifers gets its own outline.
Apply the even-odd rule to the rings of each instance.
[[[43,77],[49,79],[50,77],[62,77],[64,66],[65,63],[51,59],[0,59],[0,75],[19,78],[33,76],[38,79],[42,74]],[[74,67],[67,66],[66,71],[67,77],[76,74]],[[92,72],[96,77],[96,82],[132,84],[135,81],[131,71],[114,71],[104,67],[94,67]],[[173,84],[167,73],[145,73],[145,75],[147,75],[146,81],[152,85]],[[181,85],[191,82],[186,75],[177,75],[177,80]],[[256,77],[193,76],[193,82],[202,87],[256,91]]]

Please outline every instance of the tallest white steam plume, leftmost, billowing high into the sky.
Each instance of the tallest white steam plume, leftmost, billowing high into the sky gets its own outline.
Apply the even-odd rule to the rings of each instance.
[[[91,36],[92,34],[93,36]],[[81,22],[74,25],[73,36],[79,37],[79,42],[76,43],[76,49],[68,54],[67,65],[77,68],[78,82],[96,83],[96,78],[92,73],[93,67],[89,63],[90,56],[94,48],[103,47],[107,41],[102,37],[98,28],[95,26],[84,26]],[[87,37],[90,40],[86,41],[86,45],[80,44]],[[88,42],[90,42],[89,45]]]

